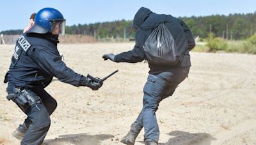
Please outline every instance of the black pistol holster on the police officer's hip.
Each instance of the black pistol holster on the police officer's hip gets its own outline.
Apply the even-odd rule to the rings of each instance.
[[[31,90],[20,90],[19,88],[14,88],[13,89],[14,93],[10,93],[9,95],[6,96],[6,99],[8,100],[13,100],[20,106],[25,106],[29,105],[32,106],[33,104],[42,102],[40,97],[38,97],[34,92]]]

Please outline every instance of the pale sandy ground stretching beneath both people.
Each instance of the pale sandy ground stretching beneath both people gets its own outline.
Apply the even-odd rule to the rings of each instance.
[[[67,66],[103,78],[98,91],[61,83],[46,90],[57,101],[47,144],[122,144],[142,107],[148,66],[104,61],[104,53],[130,50],[133,43],[59,45]],[[5,72],[13,45],[0,46],[0,144],[19,144],[11,132],[26,117],[6,100]],[[256,144],[256,55],[191,53],[189,78],[157,110],[160,144]],[[136,144],[143,144],[143,131]]]

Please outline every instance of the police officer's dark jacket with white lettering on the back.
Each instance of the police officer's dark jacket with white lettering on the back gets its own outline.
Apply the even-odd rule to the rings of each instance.
[[[52,34],[25,33],[17,40],[8,74],[8,92],[13,87],[44,89],[55,76],[74,86],[85,79],[68,68],[57,50],[58,38]],[[82,81],[81,81],[82,80]]]

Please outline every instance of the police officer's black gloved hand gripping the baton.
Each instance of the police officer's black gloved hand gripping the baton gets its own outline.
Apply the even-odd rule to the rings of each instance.
[[[95,78],[96,80],[93,80],[89,77],[82,77],[81,83],[83,86],[88,86],[89,88],[92,88],[92,90],[98,90],[102,85],[103,82],[100,82],[100,78]]]

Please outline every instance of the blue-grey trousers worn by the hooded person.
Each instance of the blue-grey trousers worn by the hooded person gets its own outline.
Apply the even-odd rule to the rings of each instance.
[[[132,123],[132,127],[137,128],[138,131],[144,127],[144,141],[158,142],[160,133],[155,113],[159,102],[173,94],[179,83],[188,76],[188,72],[189,67],[184,67],[173,69],[170,72],[148,75],[147,83],[143,88],[143,109],[136,121]]]

